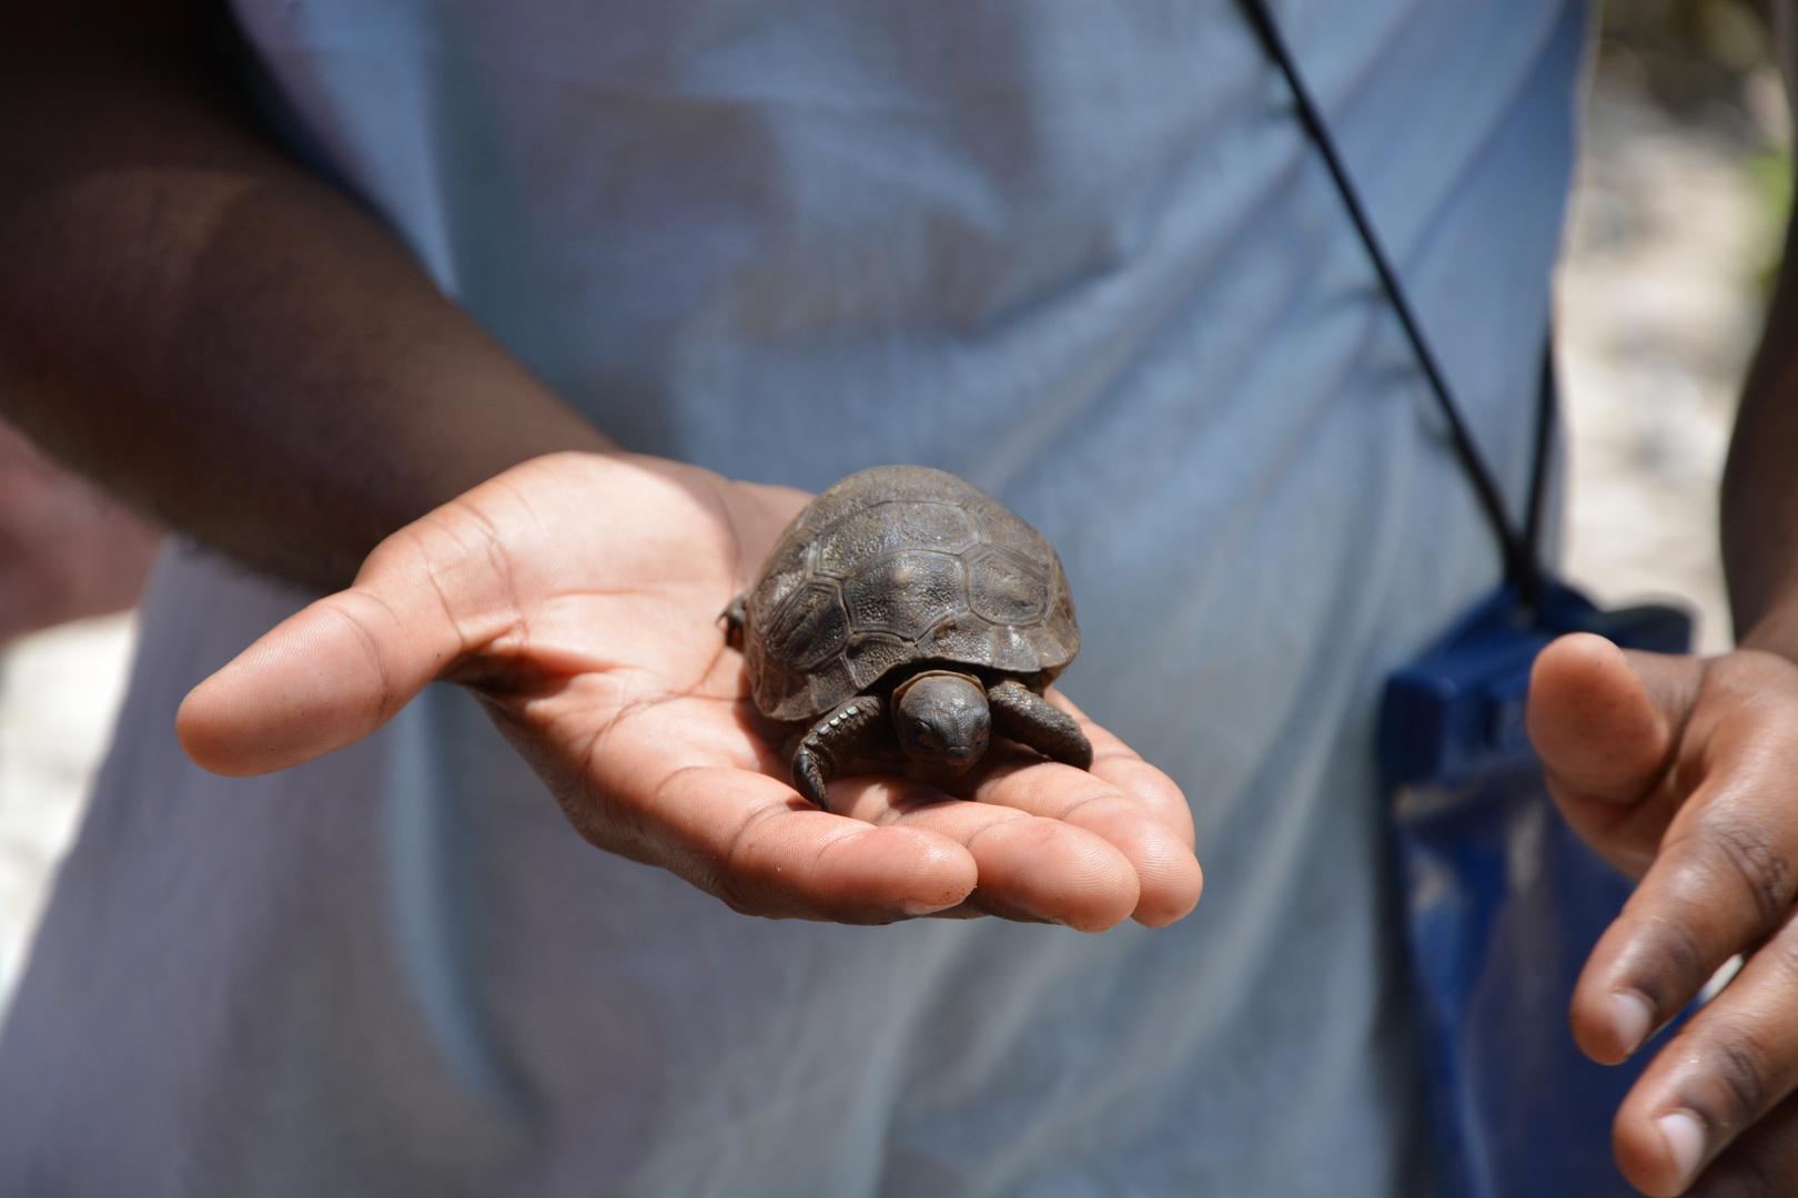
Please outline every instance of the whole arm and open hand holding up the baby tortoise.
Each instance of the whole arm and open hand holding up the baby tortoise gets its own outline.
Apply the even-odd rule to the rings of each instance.
[[[1104,729],[955,794],[786,781],[717,612],[806,496],[619,453],[367,210],[264,145],[201,5],[0,5],[0,395],[58,456],[270,573],[345,587],[183,704],[252,774],[471,686],[588,841],[737,911],[1160,927],[1185,797]],[[1066,700],[1057,699],[1064,711]]]

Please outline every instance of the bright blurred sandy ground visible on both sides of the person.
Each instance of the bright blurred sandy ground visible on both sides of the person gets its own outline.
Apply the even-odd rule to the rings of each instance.
[[[1706,652],[1730,643],[1715,485],[1767,237],[1733,147],[1598,92],[1561,271],[1566,573],[1600,602],[1683,598]],[[131,645],[119,616],[27,638],[0,666],[0,1008],[76,833]]]

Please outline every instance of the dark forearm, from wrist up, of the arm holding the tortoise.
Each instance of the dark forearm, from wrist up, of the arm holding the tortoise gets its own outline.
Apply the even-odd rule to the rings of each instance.
[[[29,7],[0,14],[0,402],[45,447],[318,586],[516,462],[608,447],[259,144],[182,5],[104,13],[110,40]]]

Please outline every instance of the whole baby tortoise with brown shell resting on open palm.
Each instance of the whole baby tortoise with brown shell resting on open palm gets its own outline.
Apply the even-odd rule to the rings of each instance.
[[[1061,559],[978,487],[921,465],[850,474],[780,533],[725,611],[762,715],[804,729],[793,785],[897,749],[966,772],[992,733],[1086,769],[1093,747],[1043,688],[1081,648]]]

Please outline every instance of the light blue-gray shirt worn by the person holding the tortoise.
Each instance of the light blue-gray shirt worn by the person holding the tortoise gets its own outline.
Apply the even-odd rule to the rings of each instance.
[[[967,476],[1063,681],[1192,799],[1165,930],[735,916],[588,848],[466,695],[254,780],[189,686],[304,596],[165,555],[0,1042],[0,1191],[1395,1194],[1372,762],[1498,553],[1232,0],[237,0],[309,137],[633,449]],[[1510,496],[1580,0],[1275,5]]]

